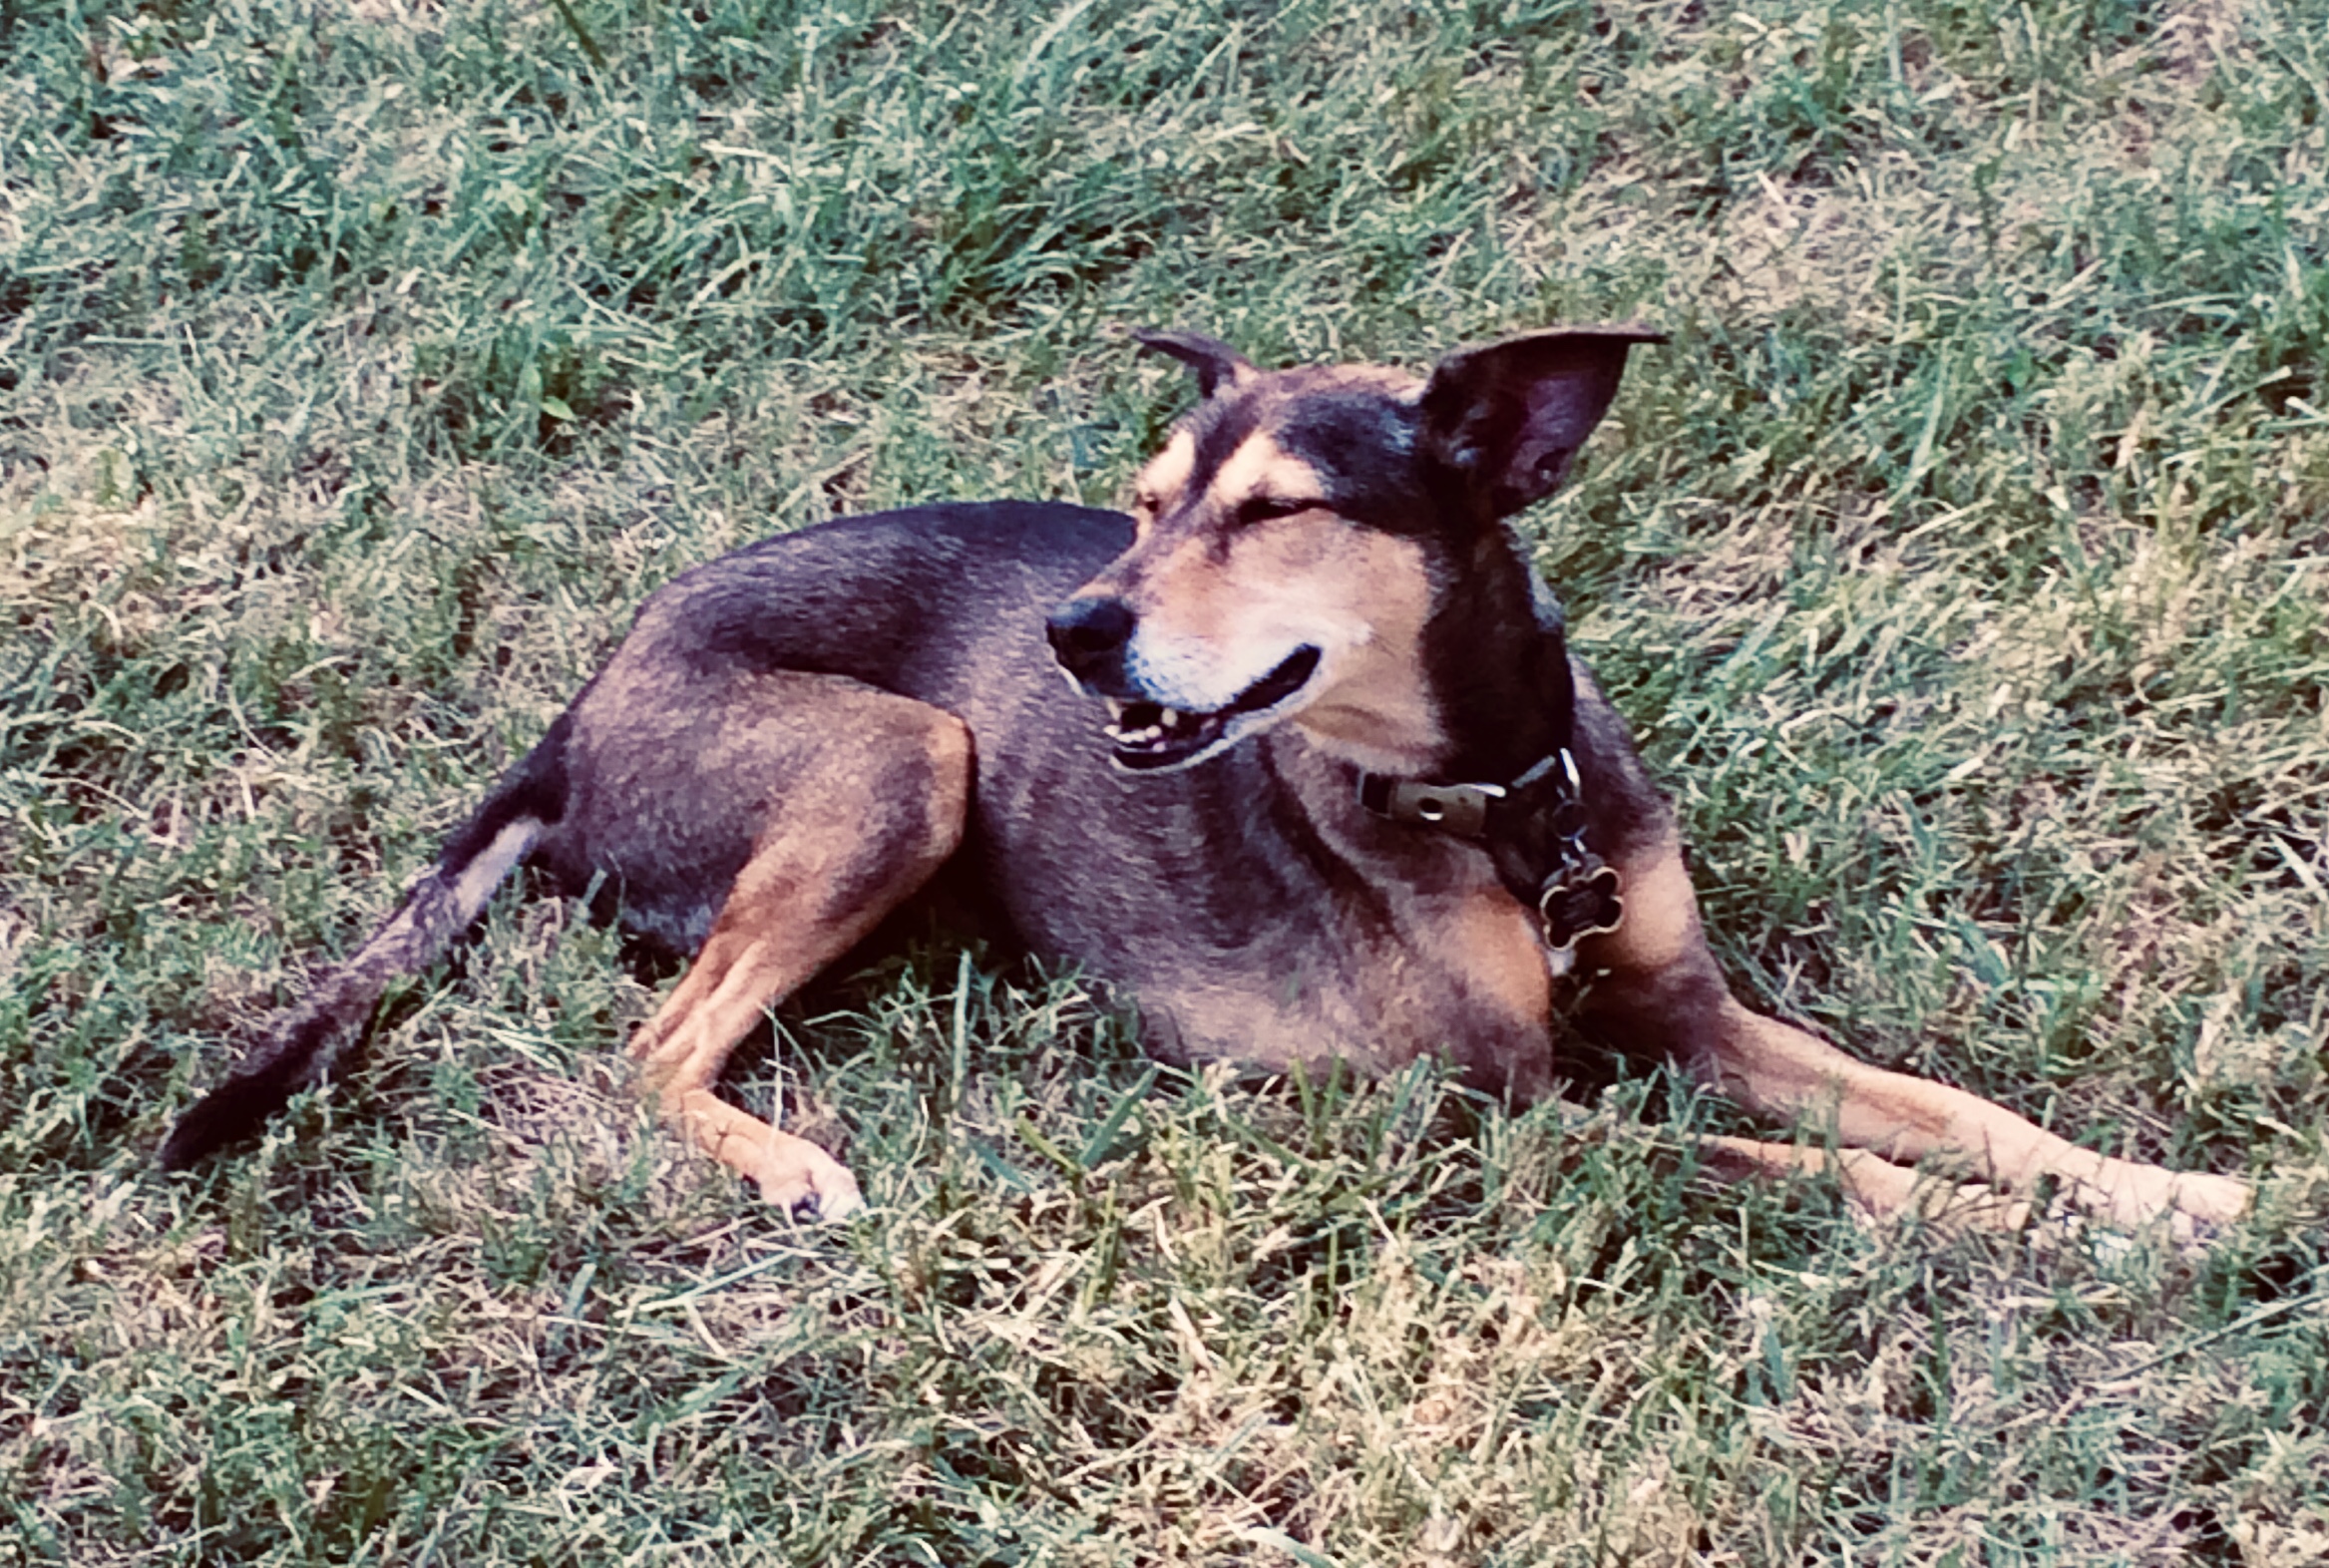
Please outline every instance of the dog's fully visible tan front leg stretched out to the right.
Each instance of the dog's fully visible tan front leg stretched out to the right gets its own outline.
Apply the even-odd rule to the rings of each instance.
[[[2247,1184],[2231,1177],[2171,1172],[2080,1149],[1980,1095],[1870,1067],[1805,1030],[1749,1011],[1707,953],[1698,899],[1672,836],[1628,857],[1621,871],[1626,923],[1579,948],[1579,969],[1593,974],[1581,1023],[1612,1041],[1682,1062],[1749,1111],[1831,1118],[1847,1151],[1933,1163],[2024,1198],[2052,1181],[2066,1202],[2117,1223],[2164,1216],[2178,1232],[2192,1232],[2194,1223],[2229,1223],[2247,1207]],[[1772,1146],[1751,1149],[1768,1153]],[[1891,1198],[1898,1186],[1866,1160],[1845,1160],[1840,1174],[1870,1207],[1900,1207]]]

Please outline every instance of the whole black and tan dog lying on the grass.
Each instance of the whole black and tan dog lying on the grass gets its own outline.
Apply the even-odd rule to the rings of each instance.
[[[1260,370],[1137,333],[1197,405],[1130,517],[950,503],[675,575],[394,916],[168,1137],[184,1167],[324,1081],[396,976],[533,862],[694,962],[631,1039],[661,1114],[780,1205],[862,1205],[824,1149],[715,1093],[766,1009],[948,869],[1169,1060],[1423,1055],[1528,1102],[1563,1023],[1819,1137],[1873,1214],[1952,1181],[2189,1235],[2247,1186],[2080,1149],[1742,1007],[1675,813],[1570,652],[1514,517],[1567,478],[1637,326]],[[1067,678],[1062,683],[1062,676]],[[1831,1142],[1833,1139],[1833,1142]]]

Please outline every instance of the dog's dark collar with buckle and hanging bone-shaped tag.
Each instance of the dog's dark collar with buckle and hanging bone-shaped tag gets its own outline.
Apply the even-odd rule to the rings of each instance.
[[[1581,794],[1567,746],[1509,785],[1358,776],[1358,804],[1374,815],[1486,841],[1505,885],[1537,906],[1537,934],[1553,955],[1574,953],[1626,918],[1623,878],[1586,846]]]

